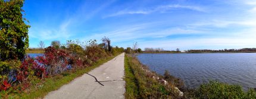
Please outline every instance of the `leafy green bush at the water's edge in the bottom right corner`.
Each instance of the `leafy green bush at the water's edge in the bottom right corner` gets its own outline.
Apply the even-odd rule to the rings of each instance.
[[[242,90],[239,85],[228,85],[217,81],[202,84],[195,90],[196,98],[256,98],[256,92]]]

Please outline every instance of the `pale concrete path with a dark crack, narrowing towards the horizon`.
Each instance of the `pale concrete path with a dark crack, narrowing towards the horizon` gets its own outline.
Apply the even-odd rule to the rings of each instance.
[[[49,92],[45,98],[124,98],[124,53]]]

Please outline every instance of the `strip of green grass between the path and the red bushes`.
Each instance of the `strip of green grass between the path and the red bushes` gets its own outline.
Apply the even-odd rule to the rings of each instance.
[[[100,59],[96,63],[94,63],[92,66],[89,66],[87,68],[79,69],[76,71],[67,71],[61,75],[53,76],[51,78],[46,78],[42,82],[35,81],[35,85],[32,85],[28,90],[20,94],[11,94],[9,95],[9,98],[26,98],[26,99],[42,98],[46,94],[48,94],[48,92],[57,90],[58,88],[60,88],[65,84],[68,84],[68,82],[72,81],[78,76],[82,76],[86,72],[89,72],[92,69],[97,68],[98,66],[107,62],[108,60],[115,58],[115,56],[111,56],[105,59]]]

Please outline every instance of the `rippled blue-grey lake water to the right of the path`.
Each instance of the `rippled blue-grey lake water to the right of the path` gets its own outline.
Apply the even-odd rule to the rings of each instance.
[[[177,53],[140,54],[138,59],[149,69],[183,79],[185,86],[196,88],[209,80],[256,87],[256,53]]]

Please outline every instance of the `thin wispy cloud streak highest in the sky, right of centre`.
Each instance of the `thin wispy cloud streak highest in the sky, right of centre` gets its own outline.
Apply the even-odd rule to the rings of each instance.
[[[201,8],[201,7],[176,4],[176,5],[160,5],[160,6],[154,7],[154,8],[146,8],[146,9],[139,9],[139,10],[124,9],[122,11],[118,11],[114,14],[110,14],[105,17],[115,17],[118,15],[125,15],[125,14],[151,14],[153,12],[164,13],[164,12],[170,11],[172,9],[190,9],[193,11],[205,12],[205,9]]]

